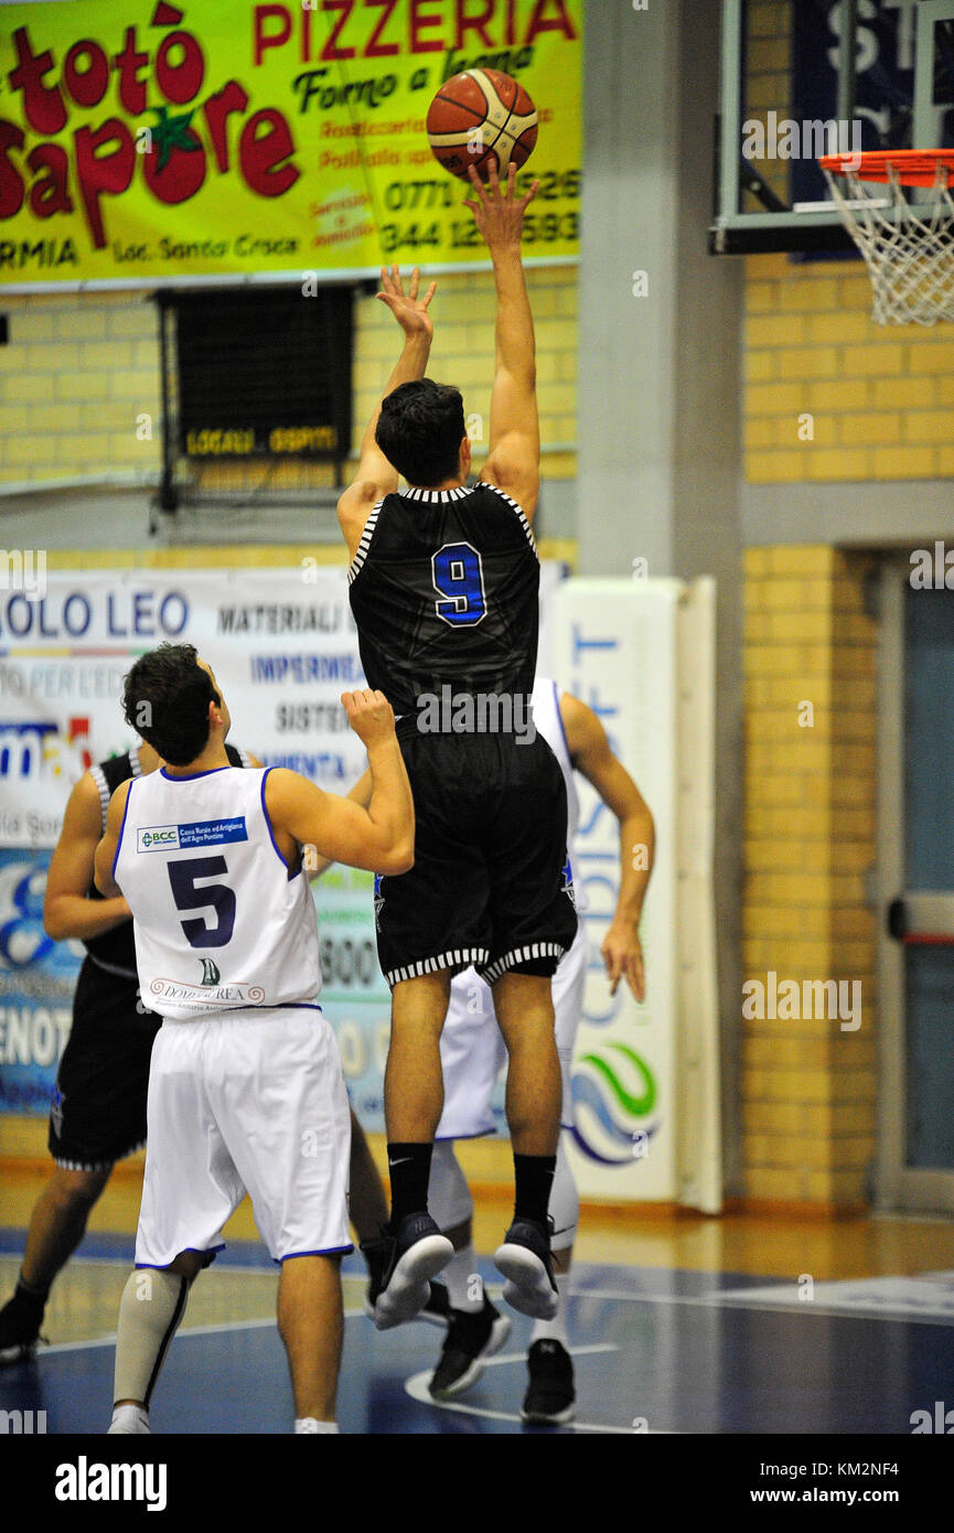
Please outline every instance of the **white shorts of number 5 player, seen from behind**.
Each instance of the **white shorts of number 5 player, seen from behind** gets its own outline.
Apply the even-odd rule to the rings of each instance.
[[[351,1119],[337,1039],[319,1010],[166,1021],[147,1128],[137,1266],[221,1249],[245,1193],[273,1260],[351,1249]]]

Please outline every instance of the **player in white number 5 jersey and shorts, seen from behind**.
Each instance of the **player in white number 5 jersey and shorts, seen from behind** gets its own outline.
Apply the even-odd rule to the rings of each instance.
[[[337,1044],[317,1004],[302,846],[370,871],[411,866],[414,803],[394,714],[380,693],[342,696],[368,750],[365,809],[284,768],[232,768],[229,708],[192,645],[141,656],[123,704],[164,766],[113,794],[95,881],[132,909],[140,987],[164,1023],[110,1432],[149,1430],[189,1285],[221,1249],[245,1191],[281,1263],[294,1429],[336,1432],[350,1125]]]

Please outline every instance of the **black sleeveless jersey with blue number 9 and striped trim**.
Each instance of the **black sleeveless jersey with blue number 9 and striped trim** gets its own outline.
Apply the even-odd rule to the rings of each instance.
[[[517,501],[492,484],[385,495],[348,570],[368,687],[394,713],[423,693],[528,696],[540,560]]]

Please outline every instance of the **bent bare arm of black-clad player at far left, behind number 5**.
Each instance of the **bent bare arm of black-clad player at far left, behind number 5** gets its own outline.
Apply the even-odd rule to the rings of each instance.
[[[113,926],[130,920],[130,909],[121,895],[89,900],[94,881],[94,858],[103,831],[100,791],[84,773],[69,796],[60,840],[46,874],[43,926],[54,941],[67,937],[103,937]]]

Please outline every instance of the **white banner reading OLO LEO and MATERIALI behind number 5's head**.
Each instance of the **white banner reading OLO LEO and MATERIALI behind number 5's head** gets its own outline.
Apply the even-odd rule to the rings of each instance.
[[[364,685],[344,569],[92,570],[0,601],[0,845],[54,846],[72,783],[137,739],[120,707],[137,655],[195,644],[267,765],[345,791],[364,747],[340,693]]]

